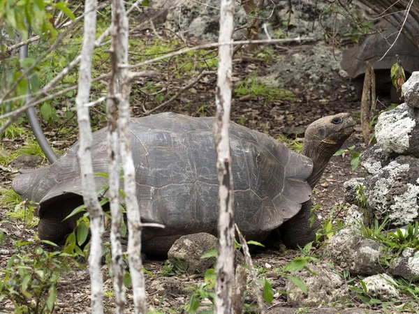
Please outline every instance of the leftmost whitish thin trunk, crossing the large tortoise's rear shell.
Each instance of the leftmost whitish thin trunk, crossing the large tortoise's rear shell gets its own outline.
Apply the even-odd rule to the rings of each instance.
[[[96,36],[96,0],[87,0],[84,6],[84,36],[82,58],[80,60],[80,77],[78,81],[78,94],[75,98],[77,105],[78,125],[80,130],[80,148],[78,157],[82,177],[83,200],[90,215],[91,246],[89,254],[89,272],[91,283],[91,313],[103,313],[103,278],[101,274],[101,253],[103,211],[96,196],[96,188],[91,163],[91,127],[89,102],[91,87],[91,58],[94,50]]]

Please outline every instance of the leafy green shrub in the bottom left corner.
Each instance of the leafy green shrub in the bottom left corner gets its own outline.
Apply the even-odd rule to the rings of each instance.
[[[80,264],[72,255],[48,252],[49,241],[14,241],[16,253],[0,270],[0,302],[7,299],[15,313],[52,313],[57,298],[57,283],[62,271]]]

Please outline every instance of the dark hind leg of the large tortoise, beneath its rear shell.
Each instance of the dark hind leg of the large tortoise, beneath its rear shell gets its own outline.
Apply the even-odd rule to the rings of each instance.
[[[54,244],[64,244],[66,236],[73,232],[77,226],[77,220],[81,214],[64,220],[71,211],[83,204],[80,195],[69,195],[60,197],[56,202],[51,202],[45,208],[41,208],[40,220],[38,223],[39,239],[54,242]]]

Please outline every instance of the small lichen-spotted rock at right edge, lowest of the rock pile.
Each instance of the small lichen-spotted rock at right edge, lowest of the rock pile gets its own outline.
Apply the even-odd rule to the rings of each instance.
[[[397,259],[390,264],[390,273],[401,276],[406,281],[418,281],[419,278],[419,251],[406,248]]]

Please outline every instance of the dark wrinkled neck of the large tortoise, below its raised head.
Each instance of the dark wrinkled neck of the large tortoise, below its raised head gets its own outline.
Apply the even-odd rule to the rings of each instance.
[[[328,165],[334,151],[325,147],[325,144],[322,142],[305,138],[301,154],[309,157],[313,161],[313,172],[311,172],[309,179],[307,179],[308,184],[313,189],[323,175],[325,167]]]

